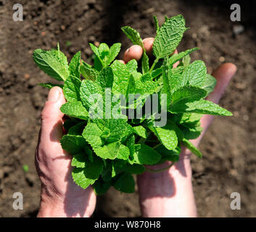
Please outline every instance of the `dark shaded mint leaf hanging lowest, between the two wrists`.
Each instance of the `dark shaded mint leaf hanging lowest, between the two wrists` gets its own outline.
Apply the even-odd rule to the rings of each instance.
[[[114,183],[114,187],[118,191],[132,194],[135,190],[135,181],[130,173],[121,174]]]

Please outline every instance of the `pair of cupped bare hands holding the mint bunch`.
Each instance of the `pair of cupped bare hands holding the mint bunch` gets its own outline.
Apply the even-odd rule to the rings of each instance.
[[[154,38],[144,39],[146,52],[152,54]],[[177,52],[177,51],[176,51]],[[125,51],[123,60],[141,59],[141,46],[131,46]],[[214,91],[207,100],[218,103],[236,66],[226,63],[212,75],[217,79]],[[36,169],[41,180],[41,205],[38,217],[90,217],[95,209],[96,196],[89,186],[82,189],[72,179],[72,156],[62,149],[59,139],[63,135],[63,114],[59,108],[65,104],[65,96],[59,87],[51,88],[41,112],[41,130],[36,148]],[[213,116],[204,115],[201,136],[191,141],[198,146],[205,131],[212,123]],[[191,152],[181,149],[181,157],[170,169],[161,173],[138,175],[139,204],[144,217],[195,217],[197,208],[191,184]],[[150,167],[159,169],[166,164]]]

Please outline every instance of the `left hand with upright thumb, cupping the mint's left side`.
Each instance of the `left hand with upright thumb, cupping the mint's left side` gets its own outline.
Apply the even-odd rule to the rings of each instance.
[[[38,217],[90,217],[96,196],[90,187],[77,186],[71,175],[71,156],[62,149],[65,103],[62,88],[54,87],[41,112],[41,130],[36,148],[36,169],[41,180],[41,204]]]

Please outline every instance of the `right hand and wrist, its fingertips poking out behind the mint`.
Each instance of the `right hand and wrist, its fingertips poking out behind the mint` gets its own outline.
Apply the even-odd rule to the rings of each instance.
[[[152,46],[154,38],[145,38],[144,47],[147,53],[152,55]],[[123,63],[131,59],[139,60],[142,56],[142,48],[134,45],[125,51]],[[177,51],[176,51],[177,53]],[[176,64],[177,66],[178,64]],[[214,91],[207,96],[207,100],[216,104],[220,101],[226,86],[236,73],[236,66],[231,63],[220,65],[212,75],[217,79]],[[195,145],[205,134],[207,128],[212,123],[214,116],[204,115],[201,119],[201,125],[204,130],[199,138],[191,140]],[[161,173],[145,172],[138,175],[137,182],[139,187],[139,203],[143,217],[196,217],[197,207],[194,200],[194,193],[191,183],[191,152],[185,146],[181,148],[181,155],[168,170]],[[168,167],[166,162],[161,165],[151,166],[152,170],[158,170]]]

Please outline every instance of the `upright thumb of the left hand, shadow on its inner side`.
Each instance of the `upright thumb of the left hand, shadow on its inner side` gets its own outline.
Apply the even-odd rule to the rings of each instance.
[[[62,117],[60,111],[62,104],[65,104],[65,97],[62,88],[51,88],[48,94],[44,109],[41,112],[41,143],[46,147],[59,145],[59,139],[62,138]]]

